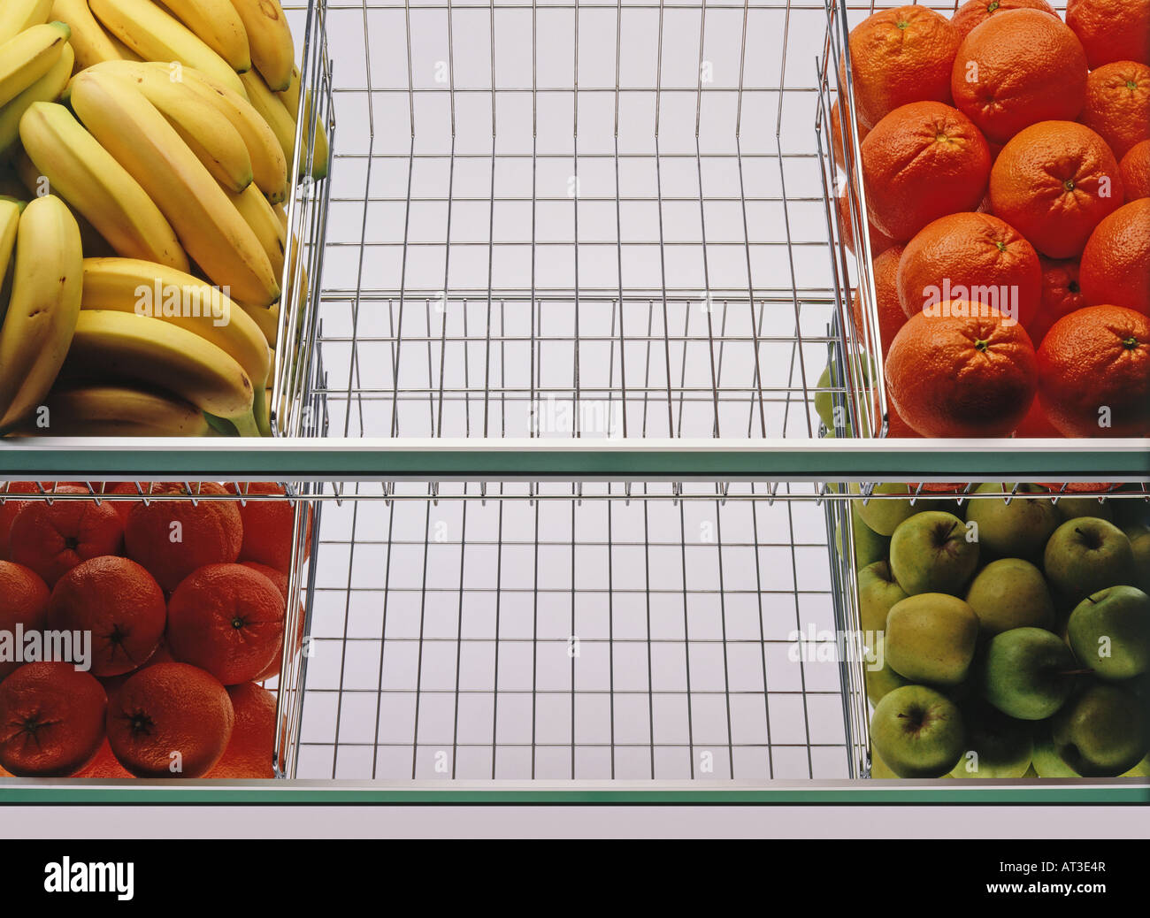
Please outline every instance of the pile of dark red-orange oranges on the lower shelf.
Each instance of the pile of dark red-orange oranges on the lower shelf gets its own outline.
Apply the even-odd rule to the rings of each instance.
[[[275,777],[275,697],[258,682],[279,672],[294,511],[256,499],[279,485],[248,492],[202,499],[228,495],[204,483],[195,500],[5,502],[0,629],[89,634],[91,648],[0,663],[0,774]]]

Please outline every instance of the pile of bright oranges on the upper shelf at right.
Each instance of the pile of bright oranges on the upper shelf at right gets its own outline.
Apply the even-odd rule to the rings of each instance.
[[[881,350],[889,416],[928,437],[1150,435],[1150,0],[1071,0],[1065,21],[1046,0],[904,6],[849,51],[880,329],[858,299],[851,323]]]

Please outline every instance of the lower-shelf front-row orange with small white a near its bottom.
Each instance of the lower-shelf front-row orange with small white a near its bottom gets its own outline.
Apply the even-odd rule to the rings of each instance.
[[[137,778],[202,778],[223,756],[235,722],[215,676],[160,663],[136,673],[108,705],[108,742]]]

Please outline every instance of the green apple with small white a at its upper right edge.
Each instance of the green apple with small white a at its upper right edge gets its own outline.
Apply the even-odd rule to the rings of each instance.
[[[915,513],[890,538],[890,569],[908,596],[949,592],[958,596],[979,566],[979,543],[952,513]]]

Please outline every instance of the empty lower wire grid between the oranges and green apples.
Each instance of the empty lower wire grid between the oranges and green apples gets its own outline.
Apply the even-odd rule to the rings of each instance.
[[[822,508],[739,495],[329,505],[297,775],[846,777],[838,667],[788,656],[835,628]]]

